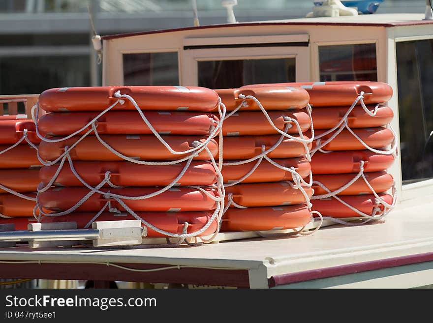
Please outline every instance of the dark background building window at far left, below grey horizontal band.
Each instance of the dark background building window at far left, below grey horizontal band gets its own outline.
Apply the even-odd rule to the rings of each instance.
[[[0,58],[0,94],[39,94],[48,88],[90,86],[88,56]]]

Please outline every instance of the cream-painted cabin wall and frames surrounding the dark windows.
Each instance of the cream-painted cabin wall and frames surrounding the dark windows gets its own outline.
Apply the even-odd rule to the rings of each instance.
[[[154,34],[128,36],[104,40],[104,66],[103,85],[123,85],[123,53],[139,52],[165,52],[178,51],[179,54],[179,78],[180,85],[193,85],[197,75],[197,64],[192,59],[191,51],[184,51],[184,39],[188,38],[212,38],[212,37],[235,37],[247,36],[272,36],[276,35],[308,35],[309,47],[305,47],[309,53],[309,68],[305,69],[306,75],[298,75],[297,81],[316,82],[319,77],[319,46],[343,45],[354,43],[375,43],[377,55],[377,79],[379,82],[390,84],[394,95],[388,102],[393,109],[394,119],[392,127],[396,130],[397,140],[399,137],[399,111],[398,111],[398,89],[395,54],[395,37],[409,37],[414,34],[418,37],[432,38],[431,25],[418,25],[410,27],[381,27],[381,26],[314,26],[314,25],[272,25],[272,26],[236,26],[217,27],[204,29],[187,29],[173,32],[162,32]],[[309,50],[309,52],[308,52]],[[224,50],[217,49],[219,56],[224,55]],[[265,52],[264,55],[268,54]],[[216,51],[215,51],[216,52]],[[257,53],[257,50],[255,51]],[[260,51],[258,51],[260,54]],[[212,53],[211,53],[212,54]],[[305,59],[303,57],[302,59]],[[304,64],[308,64],[305,61]],[[299,66],[299,65],[298,65]],[[191,84],[192,83],[192,84]],[[400,145],[399,145],[400,146]],[[432,184],[421,182],[411,186],[402,187],[400,156],[389,170],[394,177],[399,201],[411,199],[420,194],[425,194],[425,186]],[[412,187],[415,186],[415,187]],[[431,189],[433,191],[433,189]]]

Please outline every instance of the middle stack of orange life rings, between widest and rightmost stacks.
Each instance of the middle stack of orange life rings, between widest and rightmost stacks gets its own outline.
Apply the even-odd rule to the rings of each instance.
[[[295,87],[216,89],[226,193],[221,231],[302,228],[311,221],[308,92]]]

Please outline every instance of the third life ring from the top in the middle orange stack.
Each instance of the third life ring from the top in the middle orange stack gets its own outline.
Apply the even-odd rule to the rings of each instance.
[[[300,138],[299,136],[294,136]],[[224,161],[234,159],[248,159],[260,155],[262,153],[262,145],[266,149],[274,146],[281,138],[280,135],[274,136],[240,136],[240,137],[224,137],[223,139],[223,158]],[[303,136],[303,139],[309,137]],[[216,138],[216,141],[219,141]],[[311,143],[307,146],[311,148]],[[301,157],[307,153],[304,144],[293,139],[284,138],[277,148],[268,153],[270,158],[293,158]]]

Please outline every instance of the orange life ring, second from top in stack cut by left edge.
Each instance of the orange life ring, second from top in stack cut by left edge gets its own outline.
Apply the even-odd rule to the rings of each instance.
[[[0,151],[10,146],[0,146]],[[30,168],[40,166],[36,149],[29,145],[18,145],[0,155],[0,169],[4,168]]]

